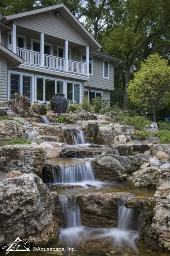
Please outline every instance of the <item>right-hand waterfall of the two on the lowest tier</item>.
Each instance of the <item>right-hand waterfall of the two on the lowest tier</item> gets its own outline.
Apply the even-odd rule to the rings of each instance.
[[[118,201],[118,230],[134,230],[134,209],[128,209],[124,203],[128,197],[119,198]]]

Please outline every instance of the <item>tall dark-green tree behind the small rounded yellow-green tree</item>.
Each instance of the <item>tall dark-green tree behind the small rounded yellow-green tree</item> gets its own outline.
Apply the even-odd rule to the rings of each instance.
[[[170,34],[170,0],[119,0],[122,21],[115,22],[103,43],[108,54],[125,60],[124,106],[135,62],[147,58]],[[116,12],[116,10],[115,10]],[[119,12],[120,13],[120,12]]]

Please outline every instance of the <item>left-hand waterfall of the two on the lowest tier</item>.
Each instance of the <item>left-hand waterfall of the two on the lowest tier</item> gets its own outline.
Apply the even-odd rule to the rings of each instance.
[[[61,227],[81,226],[81,214],[76,195],[59,196],[61,212]]]

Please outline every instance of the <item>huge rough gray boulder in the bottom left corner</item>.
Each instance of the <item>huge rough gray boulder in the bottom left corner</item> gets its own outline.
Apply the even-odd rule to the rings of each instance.
[[[37,175],[1,179],[0,202],[0,245],[17,236],[38,246],[58,239],[53,197]]]

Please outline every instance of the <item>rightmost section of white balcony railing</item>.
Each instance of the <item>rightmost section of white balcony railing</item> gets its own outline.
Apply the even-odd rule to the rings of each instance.
[[[87,64],[68,60],[68,71],[79,75],[87,75]]]

